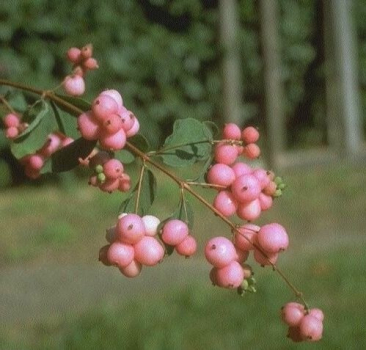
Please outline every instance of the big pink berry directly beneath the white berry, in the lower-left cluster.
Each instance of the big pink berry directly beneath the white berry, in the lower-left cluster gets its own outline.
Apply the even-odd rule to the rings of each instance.
[[[164,248],[154,237],[145,236],[134,247],[135,258],[142,265],[154,266],[164,258]]]

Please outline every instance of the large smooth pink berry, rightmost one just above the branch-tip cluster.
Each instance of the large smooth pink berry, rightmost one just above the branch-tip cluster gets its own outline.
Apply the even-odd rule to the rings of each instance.
[[[257,243],[269,253],[286,250],[289,238],[283,226],[277,223],[263,225],[257,235]]]

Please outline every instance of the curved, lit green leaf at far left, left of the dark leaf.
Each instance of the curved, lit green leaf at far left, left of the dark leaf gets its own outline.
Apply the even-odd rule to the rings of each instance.
[[[31,131],[28,128],[28,132],[24,132],[15,138],[10,146],[13,155],[18,159],[27,154],[33,154],[42,148],[47,141],[48,135],[57,129],[52,112],[47,104],[35,104],[31,106],[31,109],[33,107],[35,107],[33,112],[38,111],[41,115],[38,116],[33,114],[33,112],[28,112],[29,118],[34,118]]]

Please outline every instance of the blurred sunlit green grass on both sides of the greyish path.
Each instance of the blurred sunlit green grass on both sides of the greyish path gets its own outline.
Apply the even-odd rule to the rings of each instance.
[[[123,288],[130,285],[131,292],[121,289],[121,296],[128,294],[121,300],[101,297],[98,301],[91,299],[81,311],[52,314],[51,310],[41,320],[35,317],[35,321],[22,321],[19,315],[17,322],[5,322],[0,327],[0,348],[366,348],[365,168],[323,167],[287,173],[284,179],[289,186],[283,198],[276,200],[273,210],[265,213],[260,222],[278,221],[289,231],[291,246],[281,257],[280,266],[304,292],[310,305],[325,311],[324,338],[319,344],[295,345],[286,339],[286,327],[278,313],[293,296],[269,268],[255,268],[258,293],[240,298],[235,292],[211,287],[206,275],[188,278],[189,270],[182,271],[184,260],[171,257],[173,262],[182,262],[182,270],[177,268],[175,272],[178,280],[182,276],[177,285],[169,283],[168,275],[166,284],[155,283],[151,278],[155,272],[146,269],[138,278],[146,281],[142,288],[134,280],[123,280]],[[159,186],[161,191],[152,213],[164,217],[172,211],[178,196],[172,182],[159,182]],[[27,268],[32,267],[51,269],[72,264],[95,269],[98,249],[105,244],[104,229],[115,222],[121,201],[119,194],[106,195],[82,183],[72,191],[52,186],[3,191],[1,269],[10,274],[20,269],[24,278]],[[229,234],[225,225],[206,209],[194,200],[192,204],[196,212],[193,234],[201,247],[207,237]],[[198,265],[203,264],[200,257],[193,259]],[[169,263],[165,261],[154,271],[166,273],[164,267]],[[95,284],[98,283],[101,282],[96,279]],[[106,284],[106,288],[112,287]],[[5,288],[0,285],[0,292]],[[118,288],[121,287],[117,286],[117,291]],[[80,293],[84,291],[82,285],[79,289]],[[6,292],[12,295],[12,290]],[[25,304],[37,298],[32,293],[24,290]],[[77,302],[78,298],[75,295],[75,301],[70,302]],[[6,300],[10,302],[11,298]],[[6,314],[7,305],[1,307]]]

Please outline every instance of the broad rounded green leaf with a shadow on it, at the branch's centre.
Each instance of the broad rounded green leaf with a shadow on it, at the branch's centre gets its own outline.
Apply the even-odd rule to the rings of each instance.
[[[161,157],[172,167],[192,165],[210,157],[210,141],[212,132],[204,123],[193,118],[179,119],[174,123],[173,133],[165,140]]]

